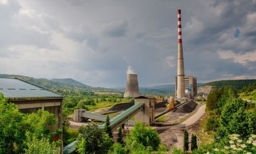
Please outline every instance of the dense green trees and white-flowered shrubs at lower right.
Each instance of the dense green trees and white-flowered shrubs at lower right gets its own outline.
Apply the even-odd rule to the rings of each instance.
[[[255,84],[243,88],[243,92],[254,90]],[[210,92],[204,130],[214,133],[214,141],[192,153],[256,153],[256,105],[238,96],[232,86]],[[175,149],[174,153],[183,152]]]

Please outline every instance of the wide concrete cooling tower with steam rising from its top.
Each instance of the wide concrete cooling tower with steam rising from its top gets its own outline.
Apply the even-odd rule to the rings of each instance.
[[[124,97],[139,97],[139,84],[137,80],[137,74],[127,74],[127,83],[124,93]]]

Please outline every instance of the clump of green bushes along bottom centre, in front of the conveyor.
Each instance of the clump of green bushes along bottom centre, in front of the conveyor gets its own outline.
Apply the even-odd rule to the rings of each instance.
[[[121,130],[121,129],[120,129]],[[77,151],[79,153],[165,153],[167,148],[160,145],[160,138],[151,127],[136,123],[126,137],[125,144],[114,143],[104,129],[91,124],[79,128]]]

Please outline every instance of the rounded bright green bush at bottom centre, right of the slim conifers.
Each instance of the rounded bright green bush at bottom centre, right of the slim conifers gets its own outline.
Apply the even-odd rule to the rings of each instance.
[[[136,123],[135,127],[131,130],[130,135],[126,137],[126,146],[128,150],[151,149],[157,151],[160,144],[160,138],[155,130],[151,127],[146,127],[144,123]]]

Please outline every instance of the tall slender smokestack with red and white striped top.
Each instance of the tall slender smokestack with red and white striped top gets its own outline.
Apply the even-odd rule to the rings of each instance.
[[[177,98],[183,98],[185,94],[184,61],[182,49],[182,18],[181,10],[178,13],[178,71],[177,71]]]

